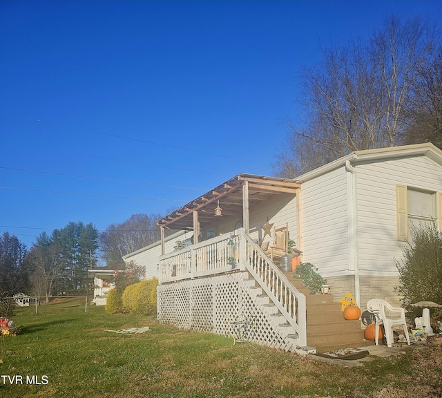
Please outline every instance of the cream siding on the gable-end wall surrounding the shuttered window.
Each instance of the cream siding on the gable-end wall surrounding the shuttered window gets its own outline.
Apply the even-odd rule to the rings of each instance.
[[[398,209],[397,187],[441,191],[441,167],[421,156],[358,164],[355,170],[360,273],[396,275],[404,244],[398,240],[397,217],[407,202],[401,200]]]

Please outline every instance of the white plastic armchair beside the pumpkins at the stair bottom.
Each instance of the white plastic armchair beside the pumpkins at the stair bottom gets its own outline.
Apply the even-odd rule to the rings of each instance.
[[[375,344],[379,343],[378,325],[384,325],[385,338],[387,346],[391,347],[393,343],[393,326],[403,325],[403,332],[410,345],[410,336],[408,335],[407,322],[405,321],[405,310],[401,307],[393,307],[383,299],[371,299],[367,303],[367,310],[376,316],[376,332],[374,334]]]

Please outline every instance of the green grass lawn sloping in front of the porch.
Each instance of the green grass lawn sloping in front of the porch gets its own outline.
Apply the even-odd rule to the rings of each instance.
[[[13,319],[23,328],[4,339],[0,397],[442,395],[440,346],[345,368],[251,343],[233,346],[227,337],[178,330],[153,317],[95,306],[85,313],[84,298],[42,305],[38,315],[21,309]],[[146,325],[150,331],[131,336],[105,331]],[[6,375],[21,376],[23,384],[10,384]]]

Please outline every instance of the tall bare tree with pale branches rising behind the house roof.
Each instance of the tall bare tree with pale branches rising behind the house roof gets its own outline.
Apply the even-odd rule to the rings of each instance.
[[[352,151],[403,143],[435,37],[420,19],[392,16],[367,43],[325,48],[323,60],[302,71],[305,116],[289,121],[289,145],[273,171],[295,177]]]

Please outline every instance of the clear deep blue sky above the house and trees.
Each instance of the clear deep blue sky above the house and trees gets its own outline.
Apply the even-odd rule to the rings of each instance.
[[[321,48],[440,1],[0,0],[0,234],[165,213],[271,175]]]

